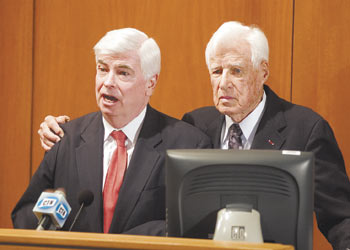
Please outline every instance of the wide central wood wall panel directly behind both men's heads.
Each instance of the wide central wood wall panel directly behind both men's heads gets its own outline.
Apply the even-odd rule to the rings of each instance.
[[[135,27],[158,42],[162,71],[151,104],[181,118],[212,104],[204,50],[228,20],[258,24],[266,32],[269,84],[289,99],[292,7],[292,0],[37,0],[33,170],[43,155],[36,131],[44,116],[75,118],[97,109],[92,47],[106,31]]]

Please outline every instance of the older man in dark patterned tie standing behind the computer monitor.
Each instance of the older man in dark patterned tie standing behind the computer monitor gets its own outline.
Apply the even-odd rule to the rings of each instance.
[[[187,113],[183,120],[205,132],[215,148],[313,152],[318,227],[334,249],[349,249],[350,183],[341,151],[326,120],[265,85],[269,48],[264,33],[224,23],[205,55],[215,107]]]

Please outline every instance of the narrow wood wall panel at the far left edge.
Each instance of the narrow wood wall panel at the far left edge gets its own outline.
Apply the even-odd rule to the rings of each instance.
[[[29,182],[33,1],[0,0],[0,227]]]

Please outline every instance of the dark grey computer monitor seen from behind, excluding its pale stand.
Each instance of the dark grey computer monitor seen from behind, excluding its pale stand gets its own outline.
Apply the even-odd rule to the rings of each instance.
[[[314,156],[274,150],[168,150],[168,236],[212,238],[217,212],[245,203],[260,213],[264,242],[312,250]]]

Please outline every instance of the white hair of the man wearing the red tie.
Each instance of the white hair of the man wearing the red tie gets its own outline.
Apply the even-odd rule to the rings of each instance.
[[[100,55],[114,55],[136,50],[144,78],[149,80],[160,73],[160,49],[156,41],[133,28],[112,30],[94,47],[96,60]]]

